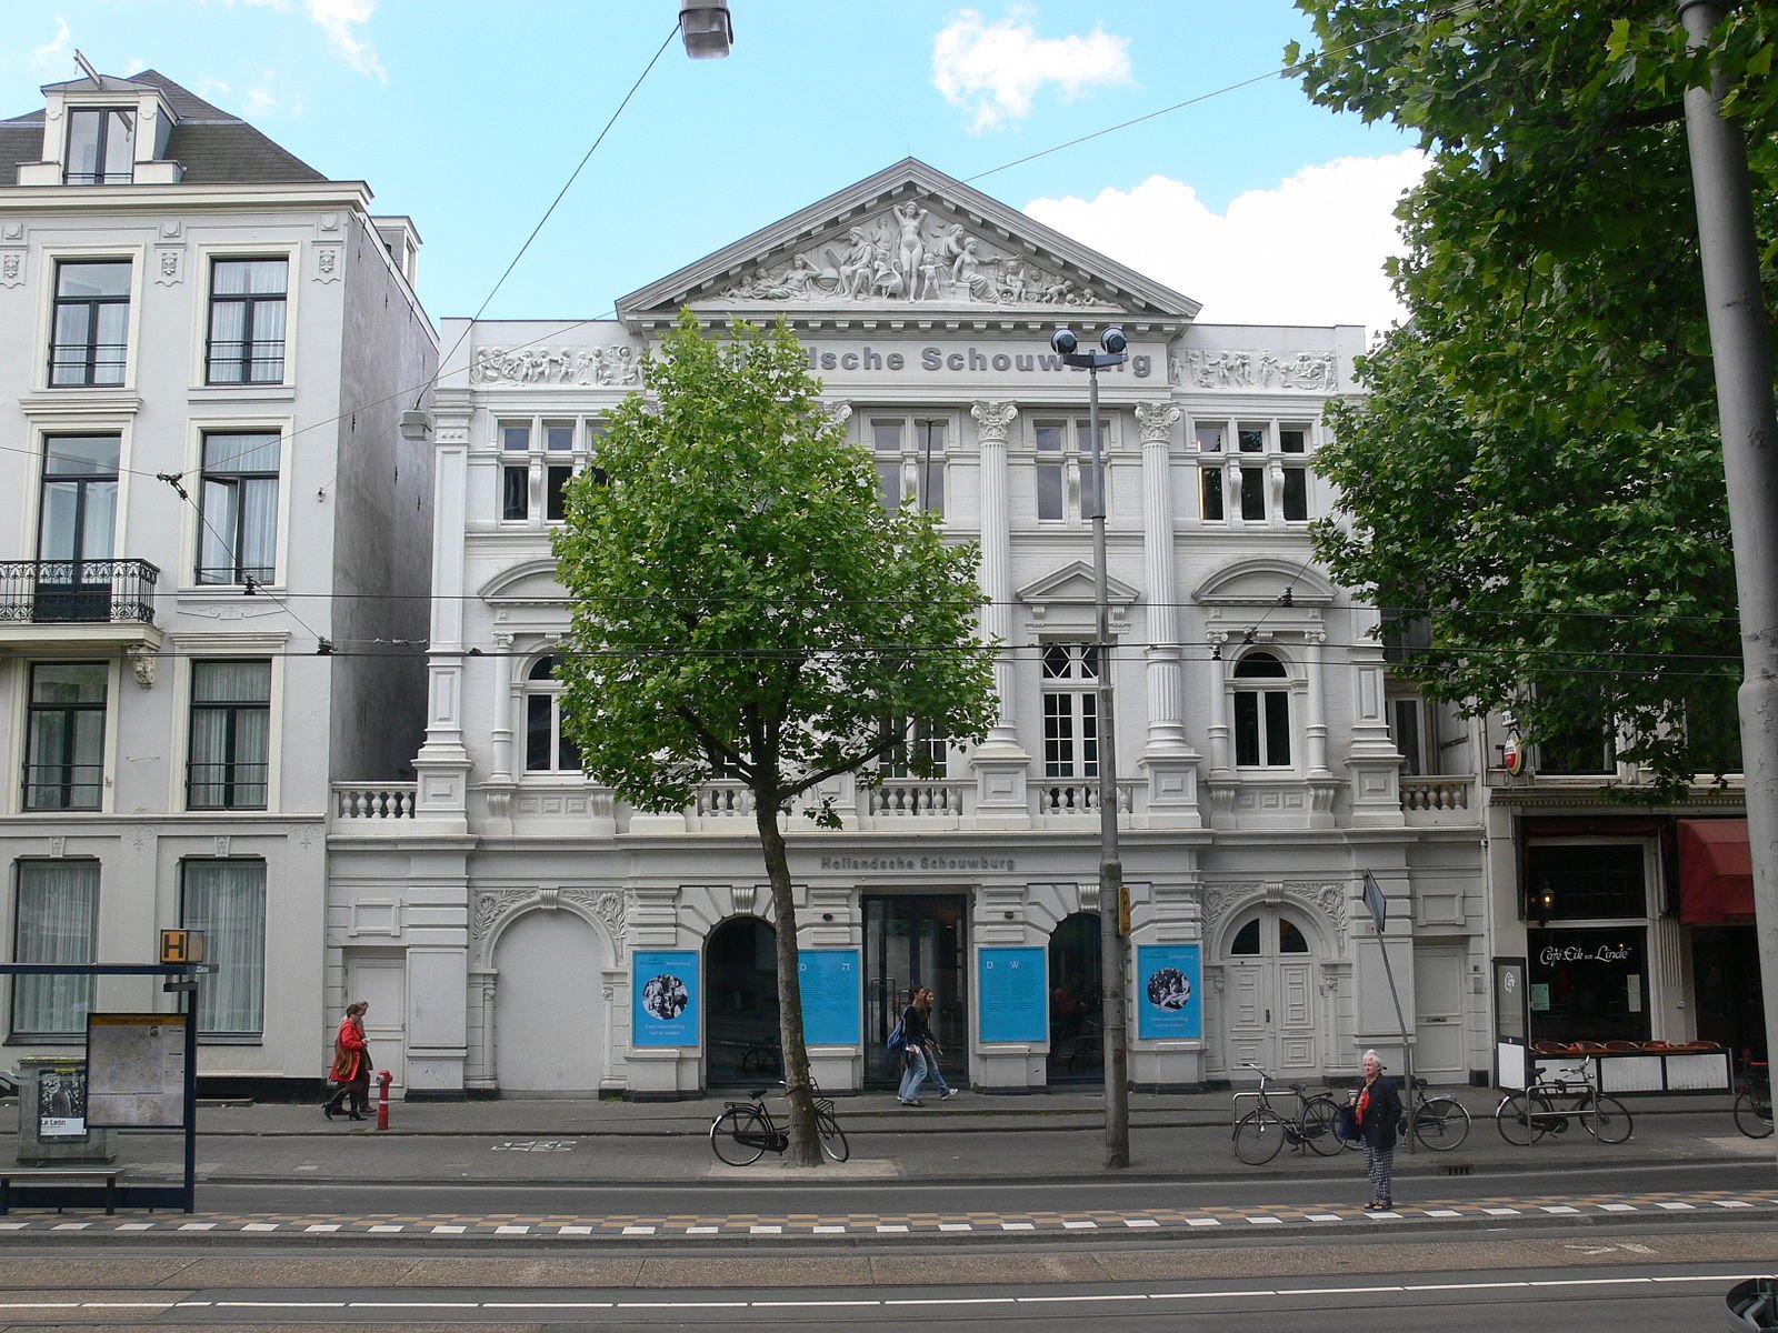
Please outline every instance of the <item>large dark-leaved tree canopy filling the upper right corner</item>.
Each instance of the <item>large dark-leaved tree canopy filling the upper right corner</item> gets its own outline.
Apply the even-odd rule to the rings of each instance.
[[[1550,754],[1641,768],[1641,798],[1737,764],[1728,505],[1682,94],[1709,76],[1673,0],[1298,0],[1309,96],[1428,153],[1398,208],[1408,322],[1330,412],[1342,514],[1316,549],[1424,622],[1401,672],[1513,711]],[[1758,226],[1778,240],[1778,0],[1719,28]],[[1778,281],[1767,249],[1771,304]],[[1424,642],[1424,640],[1415,640]]]

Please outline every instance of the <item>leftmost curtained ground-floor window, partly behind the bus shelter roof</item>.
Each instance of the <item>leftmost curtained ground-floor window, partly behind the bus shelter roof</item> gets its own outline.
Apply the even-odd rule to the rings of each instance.
[[[21,860],[12,914],[12,962],[91,963],[100,921],[96,860]],[[12,1036],[85,1036],[92,978],[12,978]]]

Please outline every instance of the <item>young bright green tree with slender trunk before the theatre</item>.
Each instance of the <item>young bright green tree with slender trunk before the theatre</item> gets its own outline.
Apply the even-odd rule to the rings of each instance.
[[[644,361],[644,391],[565,492],[555,553],[573,601],[560,654],[564,730],[585,771],[642,810],[683,810],[738,780],[777,914],[789,1155],[816,1166],[793,807],[837,825],[829,787],[871,780],[910,725],[973,743],[994,718],[978,635],[976,551],[930,514],[880,499],[779,323],[706,336],[685,311]]]

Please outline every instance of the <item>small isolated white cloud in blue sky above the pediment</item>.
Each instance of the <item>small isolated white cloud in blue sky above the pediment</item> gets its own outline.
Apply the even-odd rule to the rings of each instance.
[[[973,112],[973,133],[1029,116],[1045,84],[1072,101],[1095,84],[1131,82],[1129,37],[1099,27],[1085,37],[1038,37],[1029,12],[1013,5],[987,23],[964,9],[932,41],[932,85]]]

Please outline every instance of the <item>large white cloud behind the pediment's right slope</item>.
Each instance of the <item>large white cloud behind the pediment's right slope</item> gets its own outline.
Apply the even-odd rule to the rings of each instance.
[[[1403,318],[1383,275],[1401,252],[1392,210],[1417,185],[1417,149],[1303,167],[1211,212],[1197,190],[1150,176],[1095,199],[1033,199],[1026,213],[1204,302],[1205,323],[1362,323]]]

